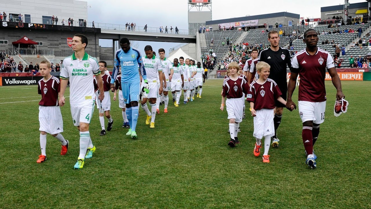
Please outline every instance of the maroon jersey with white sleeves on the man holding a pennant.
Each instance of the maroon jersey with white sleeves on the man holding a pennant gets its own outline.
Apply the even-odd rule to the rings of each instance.
[[[303,49],[292,59],[292,73],[299,73],[299,101],[326,101],[326,68],[333,68],[334,60],[329,52],[318,48],[315,55]]]

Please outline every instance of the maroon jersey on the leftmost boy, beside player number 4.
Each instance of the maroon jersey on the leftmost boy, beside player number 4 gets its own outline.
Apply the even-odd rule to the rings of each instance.
[[[59,79],[52,76],[49,80],[39,80],[37,91],[41,94],[39,105],[58,106],[58,93],[60,91]]]

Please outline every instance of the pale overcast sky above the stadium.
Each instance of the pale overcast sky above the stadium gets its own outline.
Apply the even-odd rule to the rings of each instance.
[[[283,4],[282,4],[283,2]],[[365,0],[349,0],[349,3]],[[291,12],[300,17],[321,17],[321,7],[344,4],[344,0],[212,0],[212,19],[227,19],[246,15],[261,15],[276,12]],[[88,22],[123,24],[135,22],[137,26],[160,27],[177,26],[188,29],[187,0],[88,0]],[[206,11],[206,10],[205,10]],[[151,45],[154,51],[168,49],[179,43],[139,42],[139,50]],[[101,41],[102,46],[112,46],[111,42]]]

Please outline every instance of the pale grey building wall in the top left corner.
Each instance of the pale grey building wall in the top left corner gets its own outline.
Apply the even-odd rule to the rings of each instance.
[[[42,23],[42,16],[58,16],[58,25],[62,25],[62,19],[69,17],[78,21],[88,20],[88,2],[76,0],[11,0],[2,1],[1,11],[9,18],[10,13],[30,15],[31,23]],[[51,24],[51,23],[50,23]],[[68,23],[67,23],[68,24]],[[76,25],[76,23],[75,23]]]

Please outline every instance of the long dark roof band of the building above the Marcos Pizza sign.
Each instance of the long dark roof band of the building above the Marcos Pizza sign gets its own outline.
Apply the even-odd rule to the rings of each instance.
[[[299,14],[290,13],[290,12],[277,12],[277,13],[270,13],[265,15],[253,15],[253,16],[245,16],[245,17],[234,17],[229,19],[221,19],[221,20],[210,20],[206,21],[206,25],[214,25],[220,23],[228,23],[228,22],[240,22],[240,21],[247,21],[247,20],[257,20],[257,19],[267,19],[267,18],[275,18],[275,17],[291,17],[291,18],[300,18]]]

